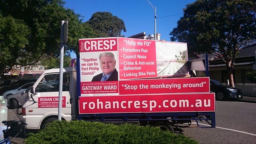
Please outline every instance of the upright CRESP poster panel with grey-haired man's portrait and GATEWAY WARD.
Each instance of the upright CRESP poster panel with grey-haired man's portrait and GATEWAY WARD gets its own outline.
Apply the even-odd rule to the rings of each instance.
[[[79,47],[81,95],[118,94],[117,38],[80,39]]]

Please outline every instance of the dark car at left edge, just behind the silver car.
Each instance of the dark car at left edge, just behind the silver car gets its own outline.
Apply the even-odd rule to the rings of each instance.
[[[24,84],[27,84],[30,82],[36,82],[36,78],[17,78],[11,81],[9,86],[0,87],[0,96],[2,96],[3,93],[6,92],[7,90],[13,90],[13,89],[19,88],[20,86],[23,86]]]

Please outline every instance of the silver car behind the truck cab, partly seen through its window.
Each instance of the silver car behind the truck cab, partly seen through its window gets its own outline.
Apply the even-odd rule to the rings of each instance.
[[[54,86],[50,84],[38,84],[38,86],[36,87],[36,91],[47,90],[49,88],[54,88]],[[8,109],[18,108],[20,105],[22,105],[24,100],[26,100],[26,98],[29,98],[27,94],[30,91],[30,89],[31,89],[31,86],[30,88],[26,89],[22,93],[6,96]]]

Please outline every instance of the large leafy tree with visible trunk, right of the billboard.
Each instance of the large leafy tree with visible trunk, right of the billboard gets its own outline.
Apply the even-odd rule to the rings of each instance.
[[[256,1],[197,0],[186,6],[177,24],[170,32],[171,40],[187,42],[189,52],[208,52],[221,58],[234,87],[238,50],[256,42]]]

